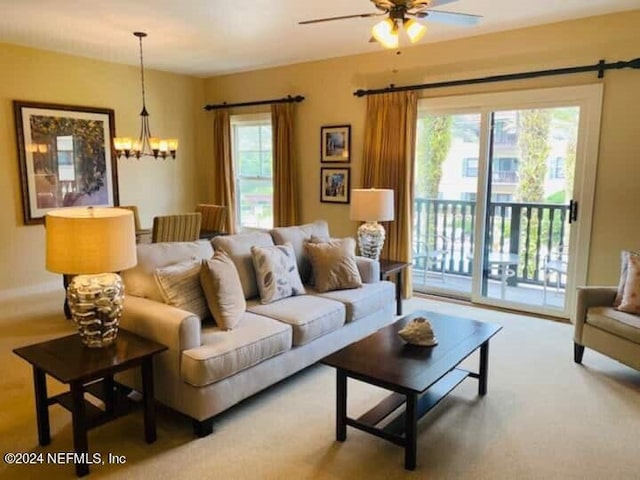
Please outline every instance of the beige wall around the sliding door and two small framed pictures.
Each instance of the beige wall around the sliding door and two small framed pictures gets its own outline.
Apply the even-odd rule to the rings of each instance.
[[[361,185],[365,103],[353,96],[359,88],[380,88],[443,80],[591,65],[630,60],[640,52],[640,10],[535,28],[428,44],[392,51],[310,62],[281,68],[210,78],[206,101],[242,102],[302,94],[297,108],[298,162],[301,168],[302,220],[325,218],[332,234],[352,235],[346,205],[319,199],[322,125],[352,128],[352,187]],[[363,39],[362,41],[366,41]],[[623,248],[638,248],[640,222],[633,215],[640,205],[640,72],[608,71],[603,80],[594,73],[423,90],[419,95],[443,96],[550,86],[604,83],[604,107],[596,206],[590,253],[589,283],[614,283]],[[238,109],[236,113],[249,113]],[[207,119],[210,128],[211,119]],[[390,125],[389,128],[393,128]]]

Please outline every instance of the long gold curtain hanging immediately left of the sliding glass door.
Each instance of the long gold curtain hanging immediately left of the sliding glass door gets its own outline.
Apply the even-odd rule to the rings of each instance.
[[[395,220],[384,224],[382,257],[411,263],[413,169],[416,144],[415,92],[393,92],[367,97],[363,149],[364,188],[395,192]],[[411,296],[411,269],[403,272],[404,298]]]

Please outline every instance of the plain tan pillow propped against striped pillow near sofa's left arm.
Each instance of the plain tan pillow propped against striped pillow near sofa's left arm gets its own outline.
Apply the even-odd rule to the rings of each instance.
[[[203,260],[200,283],[216,324],[224,329],[235,327],[247,309],[240,276],[235,264],[224,252]]]

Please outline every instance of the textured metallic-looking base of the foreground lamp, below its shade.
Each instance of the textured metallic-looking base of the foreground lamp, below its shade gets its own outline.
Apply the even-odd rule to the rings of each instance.
[[[76,275],[67,289],[67,300],[85,345],[102,348],[115,341],[124,303],[120,275]]]

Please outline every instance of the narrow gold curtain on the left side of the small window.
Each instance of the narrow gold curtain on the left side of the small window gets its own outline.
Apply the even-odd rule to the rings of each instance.
[[[226,109],[213,112],[213,165],[216,169],[214,202],[227,207],[227,232],[236,229],[236,187],[231,158],[231,122]]]

